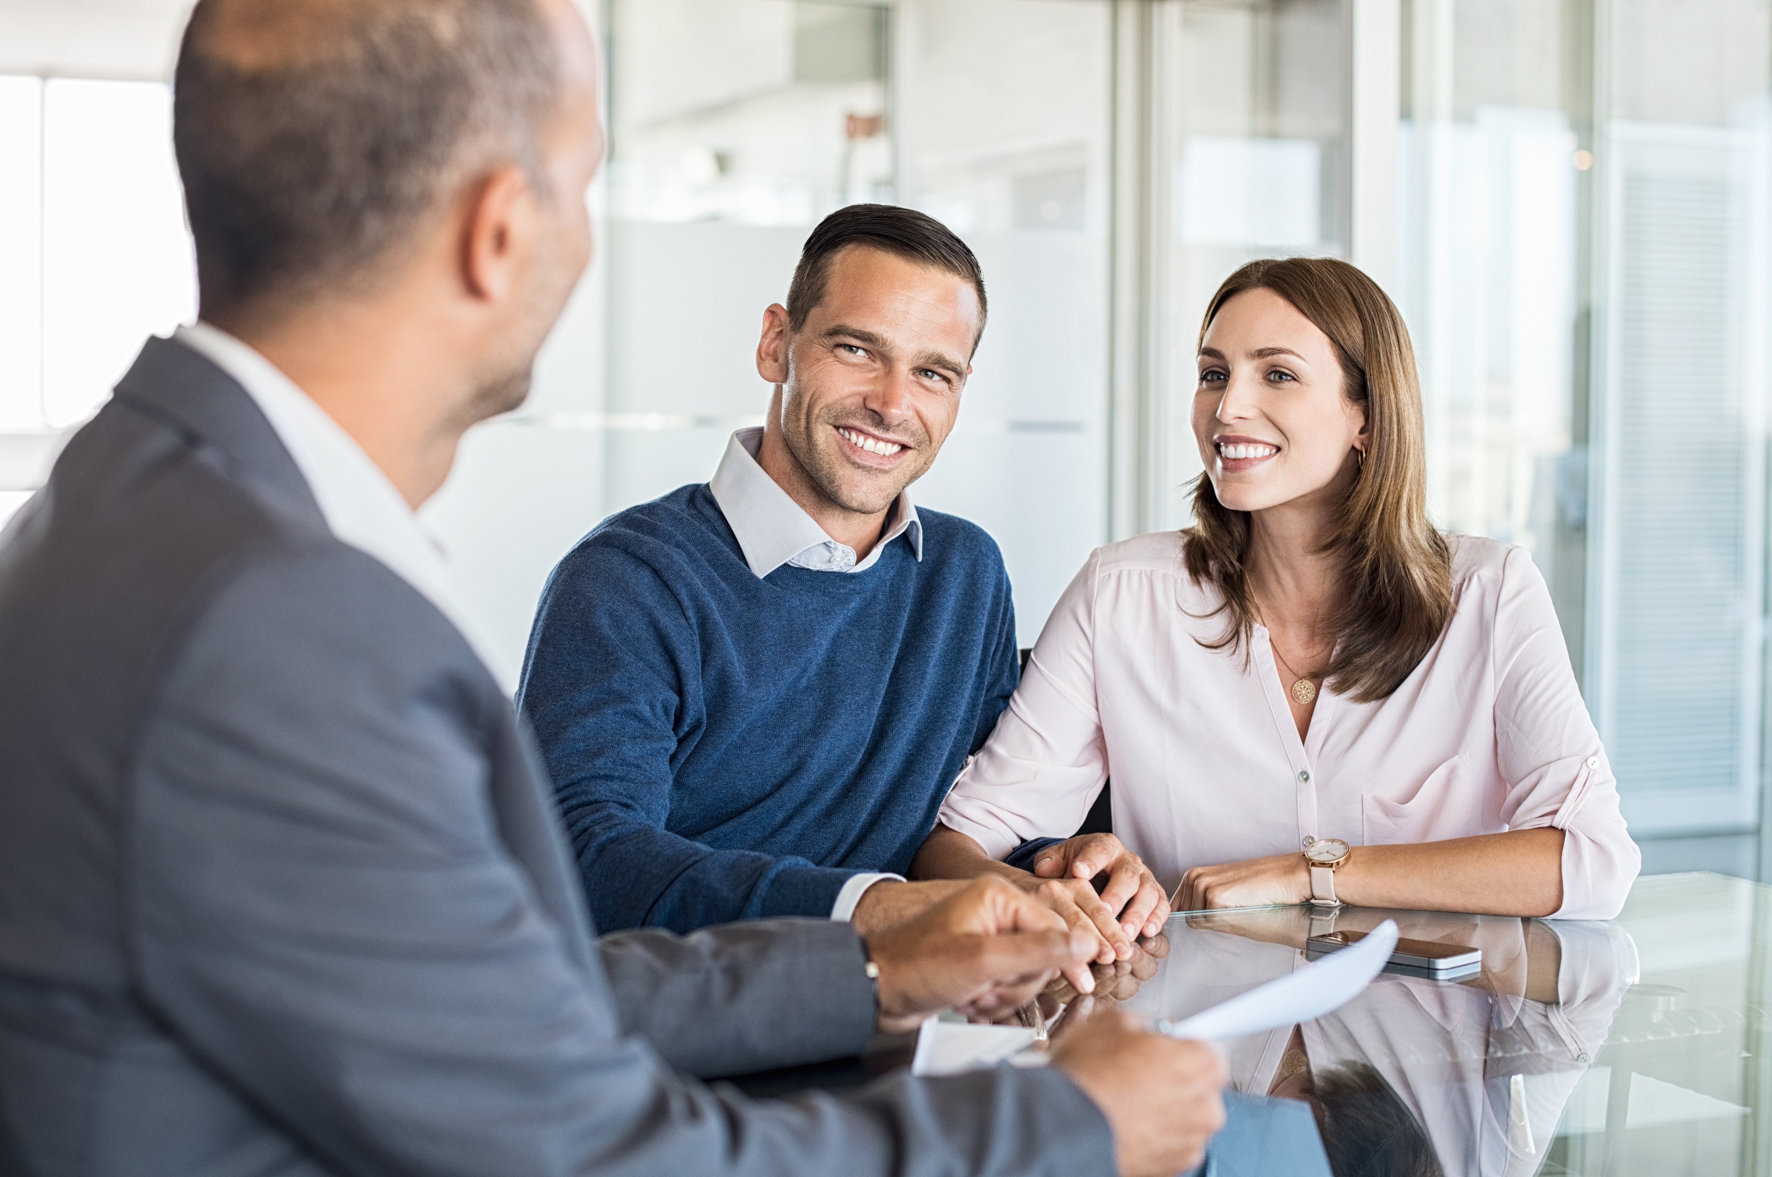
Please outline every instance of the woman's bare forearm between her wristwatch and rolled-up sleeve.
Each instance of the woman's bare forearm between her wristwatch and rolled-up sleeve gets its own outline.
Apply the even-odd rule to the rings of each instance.
[[[1336,869],[1334,890],[1361,908],[1545,916],[1563,906],[1563,831],[1356,846]]]

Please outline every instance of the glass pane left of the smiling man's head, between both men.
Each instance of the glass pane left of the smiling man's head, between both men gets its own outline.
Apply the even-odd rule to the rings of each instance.
[[[890,11],[781,0],[615,0],[604,496],[705,482],[762,424],[762,312],[806,232],[893,200]]]

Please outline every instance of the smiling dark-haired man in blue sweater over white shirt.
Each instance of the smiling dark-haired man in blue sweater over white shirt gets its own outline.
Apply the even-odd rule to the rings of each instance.
[[[1003,557],[911,505],[985,326],[973,252],[852,206],[764,312],[774,385],[712,482],[611,516],[555,569],[519,688],[597,927],[884,927],[1015,690]]]

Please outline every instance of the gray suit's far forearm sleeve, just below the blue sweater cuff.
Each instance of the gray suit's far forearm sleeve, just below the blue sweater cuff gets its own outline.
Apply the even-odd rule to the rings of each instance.
[[[874,986],[861,938],[833,920],[750,920],[689,936],[640,929],[597,941],[622,1030],[700,1076],[861,1053]]]

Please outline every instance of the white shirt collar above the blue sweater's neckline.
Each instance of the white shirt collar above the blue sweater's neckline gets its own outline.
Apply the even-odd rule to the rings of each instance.
[[[758,425],[734,433],[732,440],[727,441],[719,468],[707,484],[714,502],[719,503],[719,512],[727,516],[727,525],[739,539],[744,562],[758,580],[792,562],[808,548],[842,548],[757,463],[762,441],[764,431]],[[898,491],[886,519],[886,534],[881,535],[881,542],[874,544],[874,551],[843,571],[867,571],[879,560],[886,544],[900,535],[911,542],[916,558],[923,558],[923,521],[916,518],[916,505],[911,503],[909,491]]]

